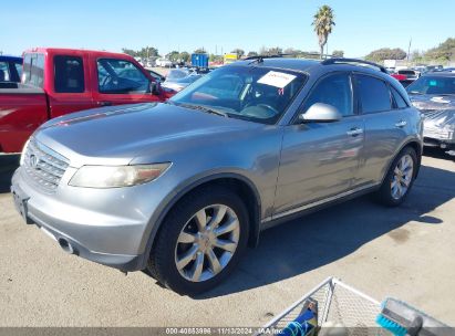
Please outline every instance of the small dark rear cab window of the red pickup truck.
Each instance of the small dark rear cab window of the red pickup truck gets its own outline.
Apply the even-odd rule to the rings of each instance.
[[[82,93],[84,85],[84,64],[82,57],[54,57],[54,83],[56,93]]]

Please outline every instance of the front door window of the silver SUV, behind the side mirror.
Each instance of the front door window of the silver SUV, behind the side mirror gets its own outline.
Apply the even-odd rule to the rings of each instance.
[[[343,117],[353,115],[351,78],[348,73],[337,73],[321,80],[304,103],[307,112],[316,103],[324,103],[338,108]]]

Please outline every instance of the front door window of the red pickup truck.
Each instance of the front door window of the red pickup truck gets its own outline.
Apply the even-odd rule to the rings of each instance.
[[[97,60],[99,90],[106,94],[149,92],[149,81],[132,62],[115,59]]]

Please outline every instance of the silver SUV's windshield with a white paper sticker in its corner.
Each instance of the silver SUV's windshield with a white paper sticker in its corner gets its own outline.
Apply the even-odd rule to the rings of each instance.
[[[203,106],[234,118],[275,124],[304,81],[306,75],[287,70],[225,66],[205,75],[170,102]]]

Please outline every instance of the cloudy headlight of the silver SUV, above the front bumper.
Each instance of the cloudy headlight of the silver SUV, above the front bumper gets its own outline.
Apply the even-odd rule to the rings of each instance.
[[[158,178],[167,164],[137,166],[83,166],[70,180],[70,186],[85,188],[118,188],[146,183]]]

